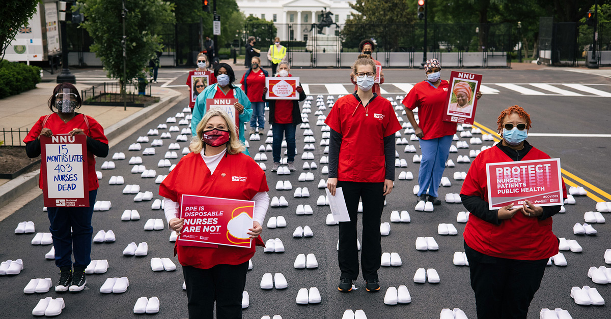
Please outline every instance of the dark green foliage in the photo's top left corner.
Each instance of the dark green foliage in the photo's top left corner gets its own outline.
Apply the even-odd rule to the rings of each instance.
[[[27,24],[36,12],[39,0],[4,0],[0,10],[0,61],[15,39],[20,26]]]

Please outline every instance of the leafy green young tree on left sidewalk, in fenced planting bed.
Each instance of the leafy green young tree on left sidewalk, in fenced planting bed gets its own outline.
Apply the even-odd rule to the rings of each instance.
[[[79,4],[82,23],[93,39],[90,47],[100,58],[107,76],[119,79],[122,88],[142,76],[155,52],[161,51],[164,24],[174,23],[174,5],[162,0],[125,1],[126,67],[123,76],[122,0],[85,0]]]

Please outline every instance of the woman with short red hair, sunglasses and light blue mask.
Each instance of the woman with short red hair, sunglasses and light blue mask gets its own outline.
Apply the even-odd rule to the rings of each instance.
[[[526,318],[547,260],[558,254],[552,216],[562,206],[540,207],[526,200],[519,207],[488,208],[486,163],[549,159],[526,141],[530,115],[522,107],[503,110],[497,124],[503,140],[475,157],[461,189],[463,205],[471,213],[464,249],[477,318]],[[564,182],[562,190],[566,198]]]

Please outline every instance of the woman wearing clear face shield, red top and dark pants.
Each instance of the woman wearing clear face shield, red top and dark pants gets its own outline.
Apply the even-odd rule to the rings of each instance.
[[[51,115],[41,116],[24,138],[26,153],[30,158],[40,156],[40,136],[56,134],[87,136],[87,184],[89,184],[89,207],[48,207],[55,248],[55,265],[59,267],[60,278],[56,292],[80,292],[87,283],[85,268],[91,262],[91,218],[93,204],[98,192],[95,156],[108,156],[108,139],[104,129],[91,116],[75,112],[81,107],[81,96],[76,87],[69,83],[57,84],[48,101]],[[46,171],[40,170],[39,187],[43,189]],[[86,184],[86,185],[87,185]],[[71,255],[74,254],[75,262]],[[73,270],[74,267],[74,270]]]

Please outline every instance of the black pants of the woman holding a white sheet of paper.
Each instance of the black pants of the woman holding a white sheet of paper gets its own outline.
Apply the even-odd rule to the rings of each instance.
[[[360,252],[360,265],[363,279],[378,279],[378,269],[382,259],[380,243],[380,220],[384,209],[384,183],[362,183],[338,181],[342,187],[350,221],[339,224],[340,249],[337,259],[342,275],[340,279],[356,280],[359,276],[359,251],[356,246],[359,198],[363,202],[363,240]]]

